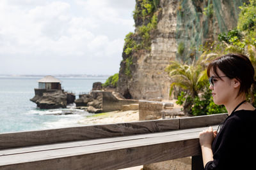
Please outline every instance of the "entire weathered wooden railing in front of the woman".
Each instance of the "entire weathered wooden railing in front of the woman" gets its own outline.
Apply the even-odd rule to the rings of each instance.
[[[192,156],[198,132],[227,114],[0,134],[0,169],[121,169]],[[216,128],[216,126],[214,126]]]

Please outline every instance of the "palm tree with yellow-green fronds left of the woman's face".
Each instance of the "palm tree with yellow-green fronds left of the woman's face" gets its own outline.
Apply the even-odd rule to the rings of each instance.
[[[207,63],[217,54],[203,53],[198,60],[192,64],[184,64],[172,60],[170,65],[166,67],[165,71],[168,72],[172,81],[170,85],[170,94],[173,92],[173,87],[181,87],[186,90],[186,100],[184,101],[183,110],[186,115],[191,113],[191,106],[193,99],[198,96],[202,88],[207,84]],[[191,100],[192,98],[192,100]]]

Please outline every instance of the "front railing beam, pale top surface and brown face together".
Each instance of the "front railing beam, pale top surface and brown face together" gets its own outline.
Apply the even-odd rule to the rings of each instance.
[[[0,165],[1,169],[118,169],[191,155],[200,155],[198,132],[7,155]]]

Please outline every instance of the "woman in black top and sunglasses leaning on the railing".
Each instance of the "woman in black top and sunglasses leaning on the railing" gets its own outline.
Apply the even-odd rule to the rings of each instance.
[[[256,110],[245,101],[254,81],[252,63],[242,54],[230,53],[207,67],[215,104],[224,104],[228,117],[219,125],[200,132],[205,169],[256,169]]]

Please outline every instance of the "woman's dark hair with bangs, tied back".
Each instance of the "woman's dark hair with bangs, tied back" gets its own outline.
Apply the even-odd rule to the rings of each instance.
[[[207,67],[208,77],[210,76],[211,70],[219,76],[217,67],[228,78],[236,78],[240,82],[241,86],[237,96],[242,92],[248,93],[248,89],[250,89],[252,83],[255,83],[255,71],[250,59],[248,59],[246,55],[240,53],[228,53],[227,55],[214,59]]]

